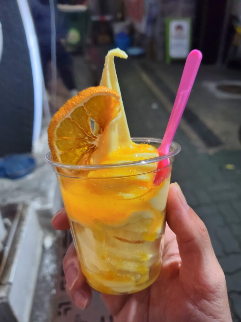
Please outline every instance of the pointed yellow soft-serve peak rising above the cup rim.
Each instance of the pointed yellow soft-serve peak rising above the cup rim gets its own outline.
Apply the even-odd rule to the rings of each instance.
[[[119,48],[110,50],[105,57],[105,64],[100,86],[115,90],[120,96],[119,114],[98,137],[97,150],[92,155],[93,164],[112,164],[138,161],[158,156],[156,150],[148,145],[132,142],[127,124],[121,90],[116,75],[114,57],[126,59],[127,54]],[[98,132],[95,125],[94,133]]]

